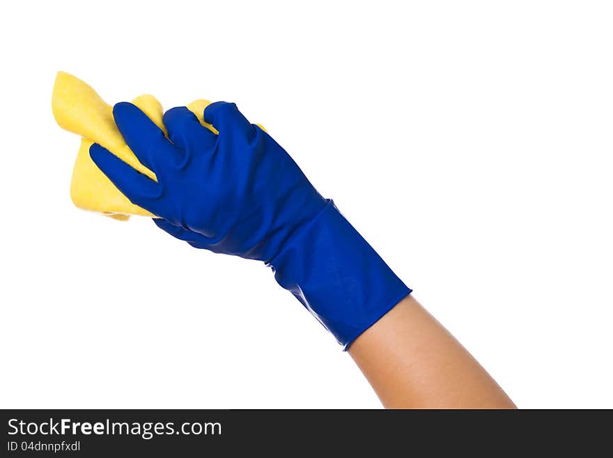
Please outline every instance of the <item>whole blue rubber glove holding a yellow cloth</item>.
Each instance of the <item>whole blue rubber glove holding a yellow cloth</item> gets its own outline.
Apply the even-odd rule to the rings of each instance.
[[[164,114],[169,139],[136,106],[116,125],[157,183],[98,144],[96,165],[155,224],[197,248],[258,259],[344,349],[411,290],[324,199],[270,135],[227,102],[206,107],[203,127],[186,107]]]

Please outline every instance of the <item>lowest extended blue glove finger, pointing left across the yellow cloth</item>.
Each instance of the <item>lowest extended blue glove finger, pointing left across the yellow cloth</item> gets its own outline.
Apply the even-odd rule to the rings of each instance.
[[[157,215],[153,209],[153,201],[160,197],[161,188],[155,181],[130,167],[97,143],[90,146],[89,155],[102,173],[132,204]]]

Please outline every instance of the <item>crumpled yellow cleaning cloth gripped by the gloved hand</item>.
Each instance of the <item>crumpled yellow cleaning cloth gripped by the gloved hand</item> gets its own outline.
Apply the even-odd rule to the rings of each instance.
[[[132,103],[166,132],[162,123],[162,105],[153,96],[139,96]],[[208,100],[196,100],[187,108],[198,117],[202,125],[217,134],[217,130],[203,119],[204,109],[209,103]],[[101,144],[134,169],[155,180],[153,171],[144,167],[125,144],[115,125],[111,105],[105,103],[91,86],[79,78],[58,72],[52,107],[55,119],[62,128],[83,137],[70,184],[70,197],[75,205],[123,221],[130,215],[155,216],[132,204],[89,157],[91,144]]]

